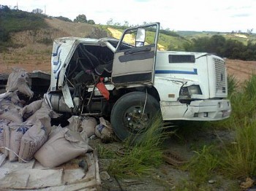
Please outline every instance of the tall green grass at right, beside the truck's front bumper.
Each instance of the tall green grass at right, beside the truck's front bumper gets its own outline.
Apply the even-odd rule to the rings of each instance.
[[[232,114],[229,119],[211,125],[216,129],[233,130],[236,137],[230,142],[197,149],[189,164],[184,166],[197,185],[216,174],[232,179],[256,176],[256,75],[241,87],[233,77],[228,84]]]

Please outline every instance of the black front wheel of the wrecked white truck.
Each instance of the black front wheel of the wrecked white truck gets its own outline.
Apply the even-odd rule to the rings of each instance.
[[[111,112],[114,133],[121,141],[128,137],[134,141],[139,140],[159,109],[159,102],[149,94],[132,92],[123,95],[116,101]]]

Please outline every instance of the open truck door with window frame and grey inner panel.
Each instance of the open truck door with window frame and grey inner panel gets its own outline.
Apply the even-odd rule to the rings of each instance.
[[[113,85],[153,85],[158,34],[159,23],[127,28],[124,31],[113,58]]]

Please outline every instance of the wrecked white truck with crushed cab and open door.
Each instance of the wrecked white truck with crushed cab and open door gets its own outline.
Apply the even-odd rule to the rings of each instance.
[[[127,28],[121,39],[53,42],[48,104],[59,113],[110,117],[116,136],[140,136],[162,120],[230,116],[225,61],[205,52],[157,50],[159,23]]]

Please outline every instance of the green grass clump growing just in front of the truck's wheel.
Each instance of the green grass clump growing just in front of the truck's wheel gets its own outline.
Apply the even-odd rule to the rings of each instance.
[[[160,117],[154,117],[150,128],[137,144],[131,144],[133,140],[124,142],[124,156],[113,160],[108,167],[108,172],[116,177],[136,176],[148,174],[153,168],[163,163],[162,142],[168,136],[162,133],[163,124]]]

